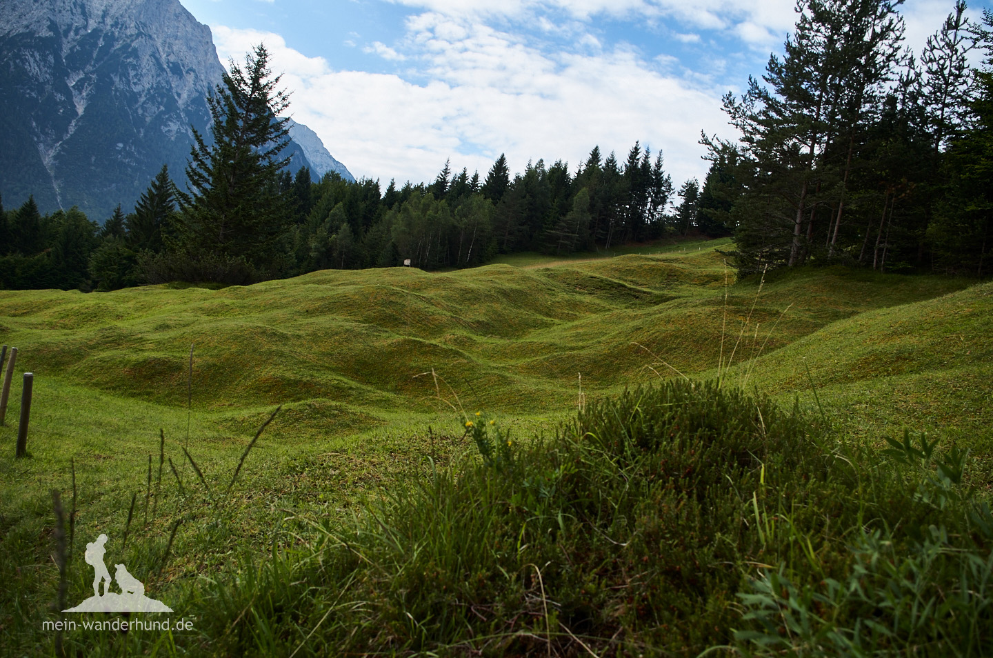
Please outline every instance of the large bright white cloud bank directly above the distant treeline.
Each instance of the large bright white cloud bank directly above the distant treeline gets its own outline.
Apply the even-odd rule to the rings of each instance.
[[[512,171],[538,158],[566,160],[575,171],[593,146],[623,158],[636,140],[661,149],[678,182],[706,173],[701,129],[730,130],[720,90],[666,73],[668,59],[601,50],[592,35],[576,39],[581,52],[543,53],[519,35],[439,12],[410,17],[406,27],[397,50],[373,43],[366,51],[406,58],[417,84],[335,70],[276,34],[222,26],[213,33],[222,59],[240,61],[264,42],[272,70],[292,91],[294,119],[314,129],[355,176],[384,185],[391,178],[429,182],[449,158],[453,168],[485,176],[501,152]]]

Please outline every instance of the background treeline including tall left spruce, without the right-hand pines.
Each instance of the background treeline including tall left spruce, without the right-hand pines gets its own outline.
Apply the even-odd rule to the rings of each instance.
[[[112,290],[151,282],[244,284],[324,268],[468,267],[497,253],[565,254],[698,226],[699,187],[675,195],[661,154],[636,144],[619,162],[594,148],[575,173],[558,161],[511,176],[500,155],[481,180],[448,162],[431,183],[295,176],[282,157],[286,94],[255,49],[209,97],[210,138],[194,131],[180,191],[163,167],[133,212],[102,227],[73,208],[42,217],[34,200],[0,212],[0,287]],[[674,212],[673,212],[674,211]],[[722,229],[717,228],[718,233]]]

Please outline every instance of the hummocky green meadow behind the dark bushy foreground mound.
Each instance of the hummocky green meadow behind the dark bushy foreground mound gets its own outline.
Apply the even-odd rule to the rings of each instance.
[[[0,581],[12,583],[0,592],[0,645],[53,651],[41,629],[58,618],[50,492],[68,514],[73,468],[71,604],[88,595],[85,543],[123,538],[132,496],[131,539],[115,560],[152,575],[151,595],[194,606],[201,584],[243,577],[238,567],[274,546],[310,547],[315,523],[351,523],[466,463],[476,448],[463,423],[477,411],[528,443],[586,404],[668,379],[718,381],[784,408],[798,400],[858,445],[926,430],[971,451],[967,479],[988,495],[993,284],[841,267],[735,282],[715,250],[729,247],[331,270],[219,290],[0,292],[0,342],[19,348],[17,373],[35,373],[30,458],[14,459],[19,381],[0,427]],[[160,428],[183,495],[168,461],[158,483]],[[123,650],[100,642],[89,649]],[[177,655],[199,646],[128,642]]]

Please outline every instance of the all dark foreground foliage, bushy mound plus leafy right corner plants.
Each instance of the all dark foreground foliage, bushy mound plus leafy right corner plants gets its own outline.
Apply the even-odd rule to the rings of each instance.
[[[313,555],[204,592],[215,650],[993,649],[993,517],[961,488],[963,455],[933,441],[894,441],[881,462],[798,411],[687,381],[594,404],[527,448],[485,415],[465,425],[480,462],[432,468],[326,527]]]

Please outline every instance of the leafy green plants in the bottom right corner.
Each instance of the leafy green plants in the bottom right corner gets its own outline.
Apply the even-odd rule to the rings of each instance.
[[[915,438],[917,440],[915,440]],[[962,486],[966,455],[935,451],[909,431],[887,437],[891,487],[908,494],[900,523],[853,529],[849,566],[802,582],[780,563],[739,594],[746,627],[735,639],[749,655],[983,656],[993,643],[993,516]],[[896,466],[896,468],[894,468]],[[853,501],[872,504],[875,501]],[[862,511],[862,510],[860,510]],[[929,512],[938,512],[935,523]],[[792,576],[790,576],[792,574]]]

